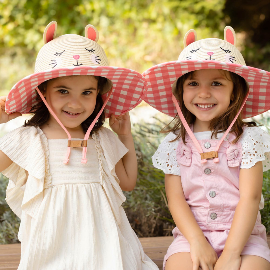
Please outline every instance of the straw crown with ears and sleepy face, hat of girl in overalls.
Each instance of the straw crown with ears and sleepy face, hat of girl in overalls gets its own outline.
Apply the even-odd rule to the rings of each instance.
[[[239,50],[235,47],[236,35],[230,26],[224,29],[224,40],[207,38],[196,40],[196,31],[191,29],[184,38],[184,50],[178,60],[211,60],[245,65]]]

